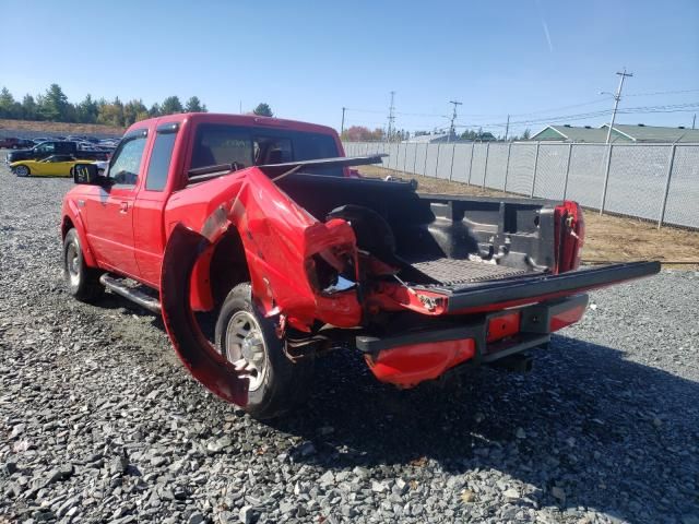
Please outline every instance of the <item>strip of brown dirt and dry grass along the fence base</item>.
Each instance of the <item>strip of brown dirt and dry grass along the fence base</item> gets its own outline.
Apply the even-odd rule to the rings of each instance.
[[[363,166],[359,171],[367,177],[387,176],[417,180],[418,191],[424,193],[469,194],[475,196],[511,196],[502,191],[481,189],[449,180],[422,177],[375,166]],[[583,261],[630,262],[659,260],[667,266],[699,270],[699,231],[663,226],[638,218],[603,215],[589,210],[585,213],[585,246]],[[680,262],[673,264],[672,262]],[[687,264],[687,263],[690,264]],[[694,263],[694,264],[692,264]]]

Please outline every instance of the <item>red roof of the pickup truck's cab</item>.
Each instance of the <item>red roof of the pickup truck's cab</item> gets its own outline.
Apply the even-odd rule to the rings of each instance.
[[[300,122],[296,120],[285,120],[282,118],[260,117],[257,115],[227,115],[222,112],[178,112],[167,115],[165,117],[149,118],[133,123],[128,130],[138,130],[149,127],[151,123],[161,124],[167,122],[190,122],[190,123],[227,123],[233,126],[245,127],[265,127],[270,128],[287,128],[297,131],[307,131],[315,133],[335,135],[336,131],[328,126],[319,126],[316,123]]]

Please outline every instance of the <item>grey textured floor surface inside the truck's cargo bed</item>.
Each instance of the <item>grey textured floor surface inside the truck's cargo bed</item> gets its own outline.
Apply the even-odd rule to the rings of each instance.
[[[420,273],[450,286],[454,284],[467,284],[471,282],[497,281],[529,273],[526,270],[506,267],[503,265],[489,264],[460,259],[436,259],[411,264]]]

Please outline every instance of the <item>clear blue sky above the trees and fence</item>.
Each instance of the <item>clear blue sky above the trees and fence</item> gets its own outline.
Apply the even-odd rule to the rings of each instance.
[[[345,106],[346,126],[374,128],[395,91],[398,128],[448,126],[458,99],[459,124],[498,134],[507,114],[514,132],[607,121],[572,116],[611,110],[599,93],[626,67],[621,109],[699,102],[696,0],[5,2],[0,48],[20,53],[0,86],[17,98],[56,82],[71,102],[196,94],[212,111],[266,102],[335,128]],[[691,126],[695,109],[618,121]]]

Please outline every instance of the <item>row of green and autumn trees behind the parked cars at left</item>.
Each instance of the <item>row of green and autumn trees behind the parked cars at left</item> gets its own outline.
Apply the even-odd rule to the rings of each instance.
[[[0,90],[0,118],[12,120],[104,123],[125,128],[139,120],[176,112],[208,112],[208,109],[197,96],[190,97],[185,104],[177,96],[168,96],[149,108],[140,98],[122,103],[119,97],[107,102],[104,98],[94,99],[92,95],[72,104],[58,84],[51,84],[36,98],[24,95],[22,102],[16,100],[7,87]]]

